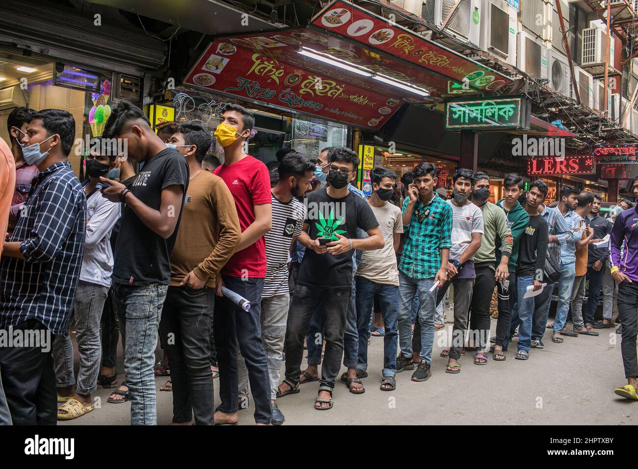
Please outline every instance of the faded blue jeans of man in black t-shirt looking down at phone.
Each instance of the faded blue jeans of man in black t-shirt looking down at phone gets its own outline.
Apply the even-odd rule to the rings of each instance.
[[[114,306],[124,346],[131,425],[156,425],[155,348],[168,285],[114,285]]]

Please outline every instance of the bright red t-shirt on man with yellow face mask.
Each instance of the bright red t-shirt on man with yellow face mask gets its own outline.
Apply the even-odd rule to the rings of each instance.
[[[218,166],[213,174],[226,182],[230,189],[242,232],[255,221],[255,205],[271,204],[271,177],[261,161],[246,156],[230,165]],[[266,244],[262,237],[255,244],[236,252],[221,269],[221,273],[232,277],[248,274],[249,278],[266,276]]]

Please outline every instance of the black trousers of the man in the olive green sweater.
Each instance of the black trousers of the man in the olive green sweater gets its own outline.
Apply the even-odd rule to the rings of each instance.
[[[475,338],[477,347],[484,349],[489,345],[489,328],[492,325],[489,306],[496,285],[496,263],[475,264],[474,271],[476,279],[470,303],[470,338]]]

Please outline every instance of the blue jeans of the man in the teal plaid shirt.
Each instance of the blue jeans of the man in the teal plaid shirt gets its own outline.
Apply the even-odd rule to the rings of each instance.
[[[399,271],[399,346],[401,355],[412,357],[412,302],[414,294],[419,294],[419,322],[421,324],[420,359],[429,364],[432,361],[434,343],[434,315],[436,314],[436,294],[434,278],[410,278]]]

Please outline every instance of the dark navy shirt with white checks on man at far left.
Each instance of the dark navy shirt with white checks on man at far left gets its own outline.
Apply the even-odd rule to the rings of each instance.
[[[66,331],[80,276],[86,198],[71,165],[54,163],[33,181],[10,241],[26,260],[0,259],[0,329],[28,319]]]

